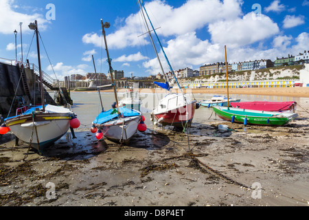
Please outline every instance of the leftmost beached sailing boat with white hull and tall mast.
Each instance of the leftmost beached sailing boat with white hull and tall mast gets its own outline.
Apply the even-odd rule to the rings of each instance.
[[[54,144],[56,140],[65,135],[70,126],[71,128],[77,128],[80,122],[70,109],[45,104],[37,21],[30,23],[29,28],[36,33],[42,103],[41,106],[27,109],[27,111],[19,115],[16,114],[13,117],[5,118],[4,124],[16,137],[30,144],[41,153],[44,148]]]

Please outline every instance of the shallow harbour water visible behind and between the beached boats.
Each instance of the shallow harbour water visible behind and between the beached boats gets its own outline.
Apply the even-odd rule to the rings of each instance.
[[[216,94],[192,94],[193,98],[197,101],[210,99]],[[124,93],[119,93],[119,100],[124,96]],[[141,113],[145,116],[145,123],[148,128],[152,128],[152,122],[150,121],[150,113],[152,108],[159,102],[160,98],[163,98],[165,94],[150,94],[141,93]],[[231,98],[241,99],[241,101],[273,101],[273,102],[288,102],[296,101],[299,106],[298,110],[309,109],[309,98],[288,97],[288,96],[254,96],[254,95],[231,95]],[[97,92],[71,92],[71,98],[73,100],[73,111],[78,115],[82,126],[91,127],[91,122],[101,112],[100,97]],[[101,93],[102,104],[104,110],[111,109],[111,104],[115,102],[113,93]],[[307,110],[308,111],[308,110]],[[194,114],[194,122],[203,124],[209,122],[214,118],[213,110],[210,108],[200,107]]]

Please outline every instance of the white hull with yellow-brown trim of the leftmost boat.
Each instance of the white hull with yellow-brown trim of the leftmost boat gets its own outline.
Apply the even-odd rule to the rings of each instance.
[[[38,151],[60,139],[70,126],[70,113],[36,113],[20,115],[5,121],[12,133]],[[32,137],[32,140],[30,141]]]

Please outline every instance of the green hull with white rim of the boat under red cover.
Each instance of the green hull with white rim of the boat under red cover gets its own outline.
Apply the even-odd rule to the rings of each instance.
[[[215,113],[223,120],[241,124],[283,126],[298,117],[297,113],[277,111],[255,111],[231,107],[214,107]]]

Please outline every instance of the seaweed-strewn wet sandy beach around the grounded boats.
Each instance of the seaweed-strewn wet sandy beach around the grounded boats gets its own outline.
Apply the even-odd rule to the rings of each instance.
[[[309,88],[266,90],[259,92],[308,97]],[[76,139],[68,132],[43,155],[1,135],[0,206],[309,206],[308,99],[301,105],[286,126],[231,124],[211,114],[185,133],[150,125],[128,146],[98,142],[80,126]]]

